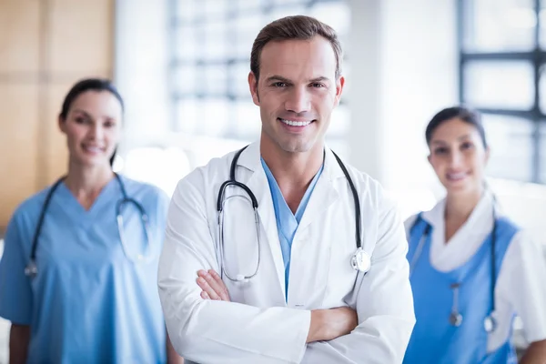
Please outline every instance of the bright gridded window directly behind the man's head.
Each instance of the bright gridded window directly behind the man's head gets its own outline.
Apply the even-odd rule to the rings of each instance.
[[[254,38],[270,21],[311,15],[333,26],[342,43],[349,35],[349,5],[342,0],[169,0],[168,6],[172,129],[190,136],[258,137],[259,109],[247,76]],[[349,117],[342,101],[332,115],[330,144],[343,139]]]

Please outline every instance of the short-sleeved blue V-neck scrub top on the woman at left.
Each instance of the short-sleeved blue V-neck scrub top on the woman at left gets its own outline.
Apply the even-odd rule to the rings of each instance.
[[[64,183],[51,198],[36,249],[38,273],[25,276],[48,188],[25,200],[5,235],[0,261],[0,316],[30,325],[29,363],[162,363],[166,329],[157,293],[157,261],[168,197],[121,177],[128,197],[149,217],[153,258],[124,254],[116,225],[123,196],[116,178],[86,210]],[[123,208],[127,253],[145,251],[140,213]]]

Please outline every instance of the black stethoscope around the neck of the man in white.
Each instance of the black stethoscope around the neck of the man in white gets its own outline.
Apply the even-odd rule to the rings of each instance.
[[[247,146],[248,147],[248,146]],[[256,277],[258,274],[258,269],[261,261],[261,241],[260,241],[260,234],[259,234],[259,216],[258,216],[258,199],[254,196],[254,193],[248,188],[247,185],[245,185],[242,182],[238,182],[238,180],[235,177],[235,169],[237,167],[238,158],[240,157],[241,153],[247,148],[243,147],[242,149],[238,150],[238,152],[235,154],[235,157],[231,161],[231,166],[229,168],[229,179],[222,183],[220,186],[220,189],[218,191],[217,196],[217,224],[218,224],[218,236],[219,236],[219,242],[218,242],[218,250],[219,250],[219,260],[220,260],[220,270],[222,276],[226,276],[229,280],[232,281],[238,281],[238,282],[246,282],[251,278]],[[369,271],[369,268],[371,267],[371,259],[369,258],[369,254],[364,251],[362,248],[362,240],[360,238],[360,201],[359,201],[359,195],[357,193],[357,189],[349,176],[349,171],[347,170],[347,167],[343,164],[341,159],[332,151],[332,154],[334,157],[336,157],[336,160],[338,161],[339,167],[341,167],[341,170],[343,171],[343,174],[345,177],[347,177],[347,181],[349,182],[349,187],[352,192],[352,196],[354,199],[355,204],[355,238],[357,243],[357,250],[350,258],[349,264],[350,266],[358,270],[359,272],[367,273]],[[239,187],[242,188],[245,191],[246,196],[240,196],[240,195],[232,195],[229,197],[226,197],[226,188],[227,187]],[[252,205],[252,208],[254,210],[254,224],[256,227],[256,234],[258,237],[258,259],[256,262],[256,267],[254,268],[253,273],[250,275],[244,275],[244,274],[237,274],[237,275],[230,275],[227,272],[225,261],[224,261],[224,204],[229,198],[233,197],[243,197],[247,199],[250,204]]]

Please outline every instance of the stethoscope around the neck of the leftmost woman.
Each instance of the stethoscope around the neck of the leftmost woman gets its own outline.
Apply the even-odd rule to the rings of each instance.
[[[116,203],[116,224],[117,224],[117,232],[119,234],[119,239],[121,241],[121,246],[123,248],[124,255],[126,258],[129,258],[133,262],[147,262],[150,258],[152,258],[151,253],[151,247],[150,247],[150,232],[149,232],[149,217],[146,213],[146,210],[140,203],[136,201],[136,199],[128,197],[126,193],[126,188],[123,184],[123,181],[121,180],[121,177],[119,177],[116,173],[114,174],[116,177],[116,181],[119,185],[119,188],[121,189],[122,197],[117,201]],[[40,233],[42,231],[42,227],[44,226],[44,218],[45,213],[47,212],[47,207],[49,207],[49,204],[51,202],[51,197],[53,197],[56,189],[60,186],[60,184],[65,180],[66,177],[59,178],[56,183],[49,189],[49,192],[47,193],[47,196],[45,197],[44,206],[42,207],[42,211],[40,212],[40,217],[38,219],[38,224],[35,228],[35,234],[34,238],[32,240],[32,248],[30,253],[30,259],[25,267],[25,276],[29,278],[35,278],[35,276],[38,274],[38,268],[36,265],[36,249],[38,248],[38,240],[40,238]],[[144,254],[137,254],[136,257],[133,257],[131,254],[129,254],[127,247],[126,247],[126,238],[124,234],[124,228],[123,228],[123,214],[122,214],[122,208],[126,204],[131,204],[136,207],[140,214],[140,219],[142,223],[142,227],[144,230],[144,235],[146,237],[146,252]]]

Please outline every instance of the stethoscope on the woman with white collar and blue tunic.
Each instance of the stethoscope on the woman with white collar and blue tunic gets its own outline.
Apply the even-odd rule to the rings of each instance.
[[[497,281],[497,266],[496,266],[496,257],[495,257],[495,245],[497,240],[497,219],[495,216],[495,207],[494,207],[495,201],[493,199],[493,228],[491,231],[491,246],[490,246],[490,301],[491,301],[491,308],[490,312],[487,315],[487,317],[483,320],[483,329],[487,333],[490,333],[497,329],[497,320],[493,318],[492,314],[495,311],[495,283]],[[418,217],[411,227],[415,227],[420,222],[420,217]],[[410,229],[410,231],[411,231]],[[425,227],[425,231],[423,232],[423,235],[420,238],[420,242],[415,249],[415,253],[413,254],[413,257],[410,261],[410,278],[413,274],[415,265],[419,261],[420,255],[422,253],[423,246],[425,245],[425,242],[427,241],[427,238],[430,236],[430,224],[427,223],[427,227]],[[453,300],[451,304],[451,312],[450,312],[450,325],[454,327],[460,327],[462,325],[463,316],[459,311],[459,291],[460,286],[462,283],[460,282],[454,282],[450,285],[451,290],[453,291]]]

